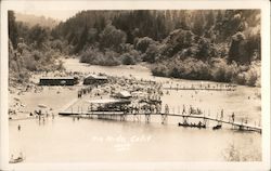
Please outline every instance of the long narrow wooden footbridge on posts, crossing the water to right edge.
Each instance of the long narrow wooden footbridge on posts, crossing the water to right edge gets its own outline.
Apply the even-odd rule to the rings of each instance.
[[[182,114],[166,114],[166,113],[125,113],[125,111],[61,111],[59,115],[62,116],[76,116],[76,117],[95,117],[98,119],[119,119],[120,121],[125,121],[127,116],[133,116],[139,120],[140,116],[145,117],[145,122],[151,121],[151,116],[160,116],[162,117],[162,123],[167,123],[168,117],[179,117],[183,120],[188,121],[190,118],[198,119],[203,123],[207,123],[208,121],[217,122],[218,124],[229,124],[234,130],[240,131],[255,131],[261,133],[261,127],[244,123],[244,122],[236,122],[236,121],[230,121],[230,120],[223,120],[223,119],[217,119],[211,117],[206,117],[204,115],[182,115]]]

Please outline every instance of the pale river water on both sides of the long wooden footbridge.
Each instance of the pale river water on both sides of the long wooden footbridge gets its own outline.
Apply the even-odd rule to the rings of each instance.
[[[132,75],[138,79],[153,79],[172,86],[219,84],[153,77],[142,66],[88,66],[77,60],[66,60],[64,65],[69,71],[95,71],[126,77]],[[223,109],[224,118],[234,111],[237,121],[247,118],[249,123],[258,124],[261,119],[259,92],[259,88],[240,86],[232,92],[172,90],[168,94],[165,92],[162,101],[170,106],[172,113],[182,110],[183,105],[193,105],[211,117]],[[69,97],[76,97],[76,93]],[[168,124],[160,124],[159,117],[152,118],[151,123],[145,123],[144,118],[141,120],[134,122],[130,118],[120,122],[61,116],[41,121],[11,120],[10,155],[23,152],[26,156],[24,162],[261,160],[260,133],[240,132],[230,128],[217,131],[210,128],[180,128],[177,127],[180,118],[169,118]]]

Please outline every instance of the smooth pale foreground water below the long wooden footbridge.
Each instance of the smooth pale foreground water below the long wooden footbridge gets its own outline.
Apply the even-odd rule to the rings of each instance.
[[[25,162],[261,159],[259,133],[68,117],[50,120],[11,121],[11,154],[24,152]]]

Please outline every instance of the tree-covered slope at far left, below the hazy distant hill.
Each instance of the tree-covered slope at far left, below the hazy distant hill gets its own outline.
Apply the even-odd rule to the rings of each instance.
[[[9,83],[27,84],[31,73],[63,69],[59,56],[62,42],[53,40],[51,28],[16,21],[9,11]]]

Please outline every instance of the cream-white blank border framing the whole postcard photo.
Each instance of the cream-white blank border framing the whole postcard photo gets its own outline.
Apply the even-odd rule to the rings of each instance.
[[[1,2],[1,127],[0,170],[13,169],[8,165],[8,10],[211,10],[261,9],[262,49],[262,161],[261,162],[140,162],[140,163],[23,163],[16,170],[269,170],[270,169],[270,3],[268,0],[246,1],[15,1]],[[143,152],[142,152],[143,153]]]

